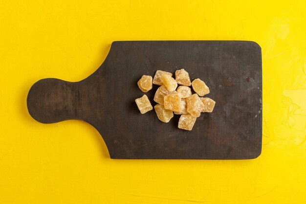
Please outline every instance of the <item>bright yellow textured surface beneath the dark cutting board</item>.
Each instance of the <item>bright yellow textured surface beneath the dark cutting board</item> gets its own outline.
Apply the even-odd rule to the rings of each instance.
[[[306,1],[266,1],[0,0],[0,204],[306,203]],[[259,43],[262,155],[115,160],[85,122],[31,118],[33,83],[86,78],[116,40]]]

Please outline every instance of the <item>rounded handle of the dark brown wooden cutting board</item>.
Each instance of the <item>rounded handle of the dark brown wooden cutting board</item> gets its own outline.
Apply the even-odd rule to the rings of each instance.
[[[82,100],[78,83],[55,78],[41,79],[30,89],[27,107],[30,115],[42,123],[80,118]]]

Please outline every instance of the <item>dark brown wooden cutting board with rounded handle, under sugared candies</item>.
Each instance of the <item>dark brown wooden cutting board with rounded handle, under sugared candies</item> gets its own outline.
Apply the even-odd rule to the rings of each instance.
[[[142,75],[184,68],[202,79],[216,101],[192,131],[177,128],[134,102]],[[73,73],[71,73],[73,74]],[[145,93],[152,105],[158,86]],[[250,41],[113,42],[103,64],[72,83],[48,78],[27,97],[30,115],[42,123],[80,119],[94,126],[112,159],[253,159],[262,149],[262,54]]]

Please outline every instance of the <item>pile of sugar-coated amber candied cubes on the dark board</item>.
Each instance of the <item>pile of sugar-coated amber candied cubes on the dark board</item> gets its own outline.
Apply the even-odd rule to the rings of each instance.
[[[185,69],[175,71],[175,79],[172,73],[157,70],[154,78],[143,75],[137,85],[143,92],[152,89],[152,84],[159,85],[154,95],[157,103],[154,110],[158,119],[162,122],[169,122],[174,114],[180,114],[178,128],[192,130],[197,117],[201,113],[211,113],[216,102],[204,96],[209,93],[209,88],[200,80],[190,81],[189,74]],[[177,85],[180,85],[177,87]],[[196,92],[192,94],[191,88]],[[135,100],[141,114],[153,110],[150,100],[146,94]],[[174,113],[174,114],[173,114]]]

